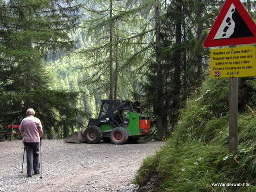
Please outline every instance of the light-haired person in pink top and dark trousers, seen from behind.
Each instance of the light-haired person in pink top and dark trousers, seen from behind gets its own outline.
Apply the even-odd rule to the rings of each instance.
[[[39,174],[39,144],[43,136],[41,121],[34,117],[35,111],[32,108],[27,110],[27,117],[21,121],[19,130],[23,133],[22,142],[24,143],[27,154],[27,174],[29,177]]]

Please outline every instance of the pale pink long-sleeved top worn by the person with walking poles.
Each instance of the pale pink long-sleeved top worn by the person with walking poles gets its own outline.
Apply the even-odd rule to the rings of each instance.
[[[29,115],[21,121],[19,130],[23,133],[22,142],[40,142],[39,130],[42,130],[41,121]]]

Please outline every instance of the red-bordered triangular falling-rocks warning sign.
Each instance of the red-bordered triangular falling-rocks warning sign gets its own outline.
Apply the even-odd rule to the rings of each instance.
[[[256,25],[239,0],[226,0],[203,46],[256,43]]]

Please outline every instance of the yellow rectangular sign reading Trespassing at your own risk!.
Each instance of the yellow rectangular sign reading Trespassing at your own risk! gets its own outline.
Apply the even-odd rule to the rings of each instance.
[[[211,50],[211,77],[256,76],[256,48],[254,46]]]

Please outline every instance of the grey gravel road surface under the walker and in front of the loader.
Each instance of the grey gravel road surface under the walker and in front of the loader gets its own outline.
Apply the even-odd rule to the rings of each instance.
[[[24,145],[0,142],[0,192],[132,192],[143,159],[164,142],[113,145],[42,140],[42,179],[21,173]]]

